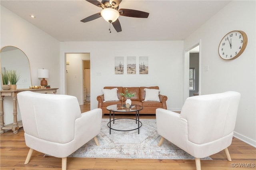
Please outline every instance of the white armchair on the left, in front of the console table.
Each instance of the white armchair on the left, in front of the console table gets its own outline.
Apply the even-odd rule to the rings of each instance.
[[[81,114],[74,96],[42,94],[24,91],[17,94],[26,145],[30,148],[25,164],[33,150],[62,158],[66,170],[67,156],[100,132],[102,110]],[[71,168],[70,168],[71,169]]]

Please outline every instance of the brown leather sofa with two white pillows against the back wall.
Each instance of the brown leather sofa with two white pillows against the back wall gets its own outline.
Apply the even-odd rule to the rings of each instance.
[[[122,96],[120,93],[125,93],[126,88],[128,89],[129,93],[136,93],[134,97],[131,97],[132,105],[140,105],[143,106],[143,109],[140,111],[140,114],[156,114],[157,108],[167,109],[166,101],[167,96],[160,95],[158,101],[144,101],[146,92],[144,91],[145,88],[147,89],[159,89],[158,86],[154,87],[104,87],[104,89],[114,89],[117,88],[117,96],[119,101],[104,101],[104,95],[100,95],[97,97],[98,101],[98,108],[102,109],[102,113],[108,114],[109,111],[106,109],[109,105],[115,105],[115,104],[122,104]],[[124,103],[126,98],[124,97]]]

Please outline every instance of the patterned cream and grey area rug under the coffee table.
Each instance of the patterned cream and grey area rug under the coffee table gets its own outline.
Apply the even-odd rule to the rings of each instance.
[[[142,127],[138,130],[116,131],[107,126],[109,119],[102,119],[101,131],[97,138],[100,146],[94,139],[76,150],[70,157],[86,158],[138,158],[138,159],[194,159],[193,156],[178,148],[171,142],[164,140],[157,146],[161,136],[156,131],[156,119],[140,119]],[[111,127],[120,130],[129,130],[138,127],[133,119],[118,119]],[[212,160],[210,157],[203,159]]]

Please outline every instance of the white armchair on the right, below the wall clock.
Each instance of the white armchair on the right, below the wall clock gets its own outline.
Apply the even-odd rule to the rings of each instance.
[[[201,169],[200,158],[228,152],[233,137],[240,93],[224,93],[188,97],[181,113],[156,109],[157,132],[195,157],[196,169]]]

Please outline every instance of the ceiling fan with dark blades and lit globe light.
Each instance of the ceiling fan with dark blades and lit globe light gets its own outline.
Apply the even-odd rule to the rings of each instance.
[[[149,13],[138,11],[138,10],[130,10],[130,9],[119,9],[119,4],[122,0],[102,0],[101,2],[97,0],[86,0],[100,8],[102,8],[101,12],[88,16],[81,20],[81,22],[89,22],[95,20],[97,18],[103,17],[104,20],[109,22],[113,25],[116,32],[121,32],[121,24],[118,20],[118,17],[121,16],[128,16],[128,17],[135,17],[135,18],[148,18]],[[109,28],[111,33],[111,30]]]

